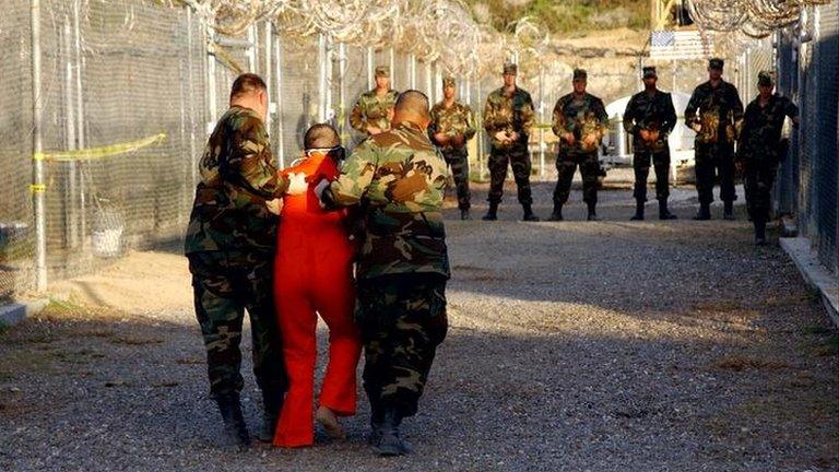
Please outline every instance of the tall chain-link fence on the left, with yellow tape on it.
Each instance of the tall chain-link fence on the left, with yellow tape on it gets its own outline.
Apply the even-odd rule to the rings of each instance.
[[[0,16],[2,298],[38,279],[33,201],[39,198],[50,278],[90,272],[127,249],[180,238],[197,161],[241,72],[257,72],[269,84],[267,127],[281,167],[299,157],[303,134],[315,122],[334,123],[351,146],[362,139],[348,110],[371,87],[376,64],[391,66],[395,88],[440,98],[441,64],[391,46],[285,35],[270,19],[232,36],[213,30],[201,9],[152,0],[38,3],[11,2]],[[36,128],[40,152],[33,149]]]

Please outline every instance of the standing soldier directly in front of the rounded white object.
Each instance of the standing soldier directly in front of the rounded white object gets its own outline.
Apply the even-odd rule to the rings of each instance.
[[[670,144],[667,134],[676,126],[676,110],[666,92],[655,87],[654,67],[643,68],[645,91],[629,99],[624,111],[624,129],[633,137],[633,168],[635,169],[636,211],[631,220],[643,220],[647,202],[647,176],[650,161],[655,168],[655,198],[659,200],[659,220],[675,220],[667,210],[670,196]]]

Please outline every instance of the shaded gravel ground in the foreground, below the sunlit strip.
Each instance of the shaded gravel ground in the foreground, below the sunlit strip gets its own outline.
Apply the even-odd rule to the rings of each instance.
[[[788,352],[775,351],[772,361],[766,352],[712,341],[515,335],[452,321],[421,414],[405,424],[414,456],[370,455],[363,400],[359,414],[346,422],[346,442],[232,455],[214,437],[220,418],[204,397],[197,327],[51,306],[0,334],[0,470],[837,465],[837,356],[813,351],[829,330],[790,333]],[[737,364],[737,355],[760,362]],[[249,368],[246,361],[244,370]],[[256,425],[258,396],[249,374],[246,382],[246,411]]]

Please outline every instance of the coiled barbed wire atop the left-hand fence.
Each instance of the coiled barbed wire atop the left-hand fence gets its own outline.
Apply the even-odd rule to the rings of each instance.
[[[333,43],[383,48],[439,61],[447,73],[480,79],[520,54],[544,50],[546,28],[517,22],[512,40],[478,24],[462,0],[169,0],[201,15],[211,33],[244,34],[270,21],[285,39],[327,35]]]

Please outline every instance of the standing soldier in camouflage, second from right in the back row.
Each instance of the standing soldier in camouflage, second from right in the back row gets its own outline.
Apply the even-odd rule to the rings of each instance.
[[[734,220],[734,142],[743,120],[737,88],[722,80],[722,59],[708,62],[708,82],[699,84],[685,108],[685,123],[696,131],[695,165],[699,212],[694,220],[711,219],[713,181],[719,174],[725,220]]]

